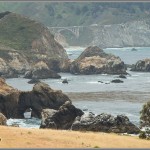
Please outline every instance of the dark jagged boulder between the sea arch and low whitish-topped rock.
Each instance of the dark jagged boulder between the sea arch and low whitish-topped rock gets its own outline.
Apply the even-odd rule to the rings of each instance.
[[[40,128],[70,129],[75,118],[82,115],[83,112],[80,109],[67,101],[59,110],[43,110]]]

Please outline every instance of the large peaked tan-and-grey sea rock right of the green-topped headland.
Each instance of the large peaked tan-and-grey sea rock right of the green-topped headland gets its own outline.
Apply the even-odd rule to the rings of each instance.
[[[106,54],[97,46],[90,46],[71,63],[73,74],[126,74],[126,66],[119,57]]]

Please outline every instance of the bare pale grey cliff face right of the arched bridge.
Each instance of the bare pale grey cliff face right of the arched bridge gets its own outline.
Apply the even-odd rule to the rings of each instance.
[[[150,46],[150,21],[93,27],[93,41],[102,47]]]

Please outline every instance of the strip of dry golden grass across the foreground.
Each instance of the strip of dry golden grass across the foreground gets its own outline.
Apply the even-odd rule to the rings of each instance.
[[[0,148],[150,148],[150,141],[117,134],[0,126]]]

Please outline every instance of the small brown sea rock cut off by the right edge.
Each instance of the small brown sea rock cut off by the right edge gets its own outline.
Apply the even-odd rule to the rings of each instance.
[[[132,66],[131,71],[150,72],[150,59],[143,59]]]

